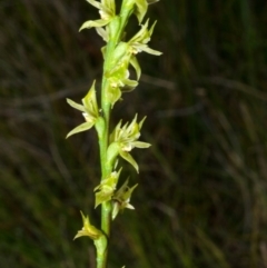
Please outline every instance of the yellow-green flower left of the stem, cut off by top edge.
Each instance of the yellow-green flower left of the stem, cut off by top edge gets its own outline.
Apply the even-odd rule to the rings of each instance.
[[[101,2],[95,1],[95,0],[87,0],[90,4],[99,9],[100,13],[100,20],[88,20],[86,21],[79,31],[92,27],[103,27],[107,26],[113,18],[115,18],[115,12],[116,12],[116,6],[115,6],[115,0],[101,0]],[[101,34],[100,34],[101,36]]]

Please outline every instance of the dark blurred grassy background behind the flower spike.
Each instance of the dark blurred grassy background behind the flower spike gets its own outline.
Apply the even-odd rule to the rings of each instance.
[[[148,116],[134,151],[140,175],[113,222],[109,267],[267,268],[267,3],[161,0],[139,54],[140,86],[112,125]],[[0,2],[0,267],[95,267],[89,239],[72,241],[79,210],[99,224],[93,131],[66,98],[101,78],[98,18],[83,0]],[[129,32],[137,29],[132,19]],[[121,161],[122,163],[122,161]]]

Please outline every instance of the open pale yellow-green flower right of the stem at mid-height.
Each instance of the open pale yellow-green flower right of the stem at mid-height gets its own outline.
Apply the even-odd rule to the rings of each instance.
[[[139,141],[140,130],[146,118],[139,123],[137,122],[137,116],[132,122],[128,126],[128,122],[121,127],[121,121],[116,126],[115,130],[110,135],[110,146],[108,148],[108,161],[113,162],[119,155],[126,161],[128,161],[138,172],[138,165],[132,156],[129,153],[134,148],[145,149],[150,147],[150,143]]]

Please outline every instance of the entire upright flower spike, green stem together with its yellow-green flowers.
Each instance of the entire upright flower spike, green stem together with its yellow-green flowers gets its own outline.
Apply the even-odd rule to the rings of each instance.
[[[109,132],[110,112],[121,99],[123,92],[131,91],[138,86],[141,69],[137,54],[147,52],[155,56],[161,52],[148,47],[156,22],[149,28],[149,20],[142,24],[148,4],[157,0],[122,0],[120,11],[116,14],[115,0],[87,0],[99,9],[100,19],[86,21],[80,30],[96,28],[97,33],[106,41],[101,49],[103,56],[103,73],[101,81],[100,108],[97,101],[96,81],[93,81],[81,105],[70,99],[67,102],[82,112],[85,122],[72,129],[67,138],[87,131],[95,127],[100,151],[101,179],[95,188],[96,208],[101,205],[101,227],[90,224],[89,217],[82,216],[83,227],[76,238],[88,236],[96,246],[97,268],[107,267],[108,241],[110,239],[111,221],[123,209],[134,209],[130,199],[137,185],[129,187],[129,178],[117,189],[121,168],[118,169],[118,159],[122,158],[139,172],[139,167],[131,156],[134,148],[145,149],[149,143],[139,141],[140,130],[145,118],[137,121],[137,115],[131,122],[122,125],[122,120]],[[125,40],[126,26],[131,14],[137,17],[140,30],[128,41]],[[130,78],[129,68],[134,68],[136,79]]]

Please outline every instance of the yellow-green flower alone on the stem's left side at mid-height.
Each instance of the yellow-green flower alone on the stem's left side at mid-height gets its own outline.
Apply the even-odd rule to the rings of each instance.
[[[99,117],[99,111],[98,111],[98,105],[97,105],[97,97],[96,97],[96,89],[95,89],[95,83],[93,81],[90,90],[88,91],[87,96],[81,100],[82,105],[79,105],[70,99],[67,99],[67,102],[73,107],[77,110],[82,111],[82,116],[86,119],[86,122],[79,125],[75,129],[72,129],[68,135],[67,138],[70,137],[71,135],[86,131],[97,122],[97,120],[100,118]]]

